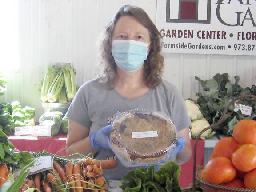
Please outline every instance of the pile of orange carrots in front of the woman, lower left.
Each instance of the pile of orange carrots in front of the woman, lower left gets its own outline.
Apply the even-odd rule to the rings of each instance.
[[[80,159],[76,164],[68,162],[61,166],[53,161],[53,169],[27,178],[20,192],[36,188],[41,192],[106,192],[108,188],[102,169],[116,168],[114,159],[96,160],[90,157]]]

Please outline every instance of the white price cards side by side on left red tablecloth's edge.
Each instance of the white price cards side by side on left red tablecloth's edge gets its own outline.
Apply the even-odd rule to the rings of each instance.
[[[34,125],[14,129],[14,135],[51,136],[52,126]]]

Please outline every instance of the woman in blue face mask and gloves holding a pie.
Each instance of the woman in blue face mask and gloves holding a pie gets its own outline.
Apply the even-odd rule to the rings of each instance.
[[[152,108],[165,112],[178,130],[180,138],[170,158],[176,156],[177,164],[189,160],[191,122],[182,96],[161,78],[164,58],[160,38],[143,9],[126,5],[116,13],[100,40],[105,75],[81,86],[66,114],[68,154],[75,149],[82,154],[93,153],[99,160],[113,157],[107,139],[111,117],[129,109]],[[117,168],[105,170],[104,176],[120,179],[129,170],[119,162]]]

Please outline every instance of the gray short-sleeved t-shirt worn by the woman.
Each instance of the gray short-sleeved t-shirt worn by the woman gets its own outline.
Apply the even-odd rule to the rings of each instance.
[[[72,121],[89,128],[90,132],[98,131],[108,125],[116,112],[136,108],[150,108],[164,112],[178,131],[188,128],[191,124],[183,97],[174,85],[166,80],[137,99],[128,99],[115,89],[106,88],[99,80],[100,78],[89,80],[79,88],[66,114]],[[113,156],[112,151],[100,149],[94,158],[106,160]],[[132,169],[134,168],[125,168],[118,161],[117,168],[104,170],[104,177],[120,180]]]

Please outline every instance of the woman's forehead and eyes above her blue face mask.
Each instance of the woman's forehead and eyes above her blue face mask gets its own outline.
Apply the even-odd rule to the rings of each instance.
[[[112,40],[136,40],[149,44],[150,35],[148,29],[133,16],[121,16],[116,22]]]

